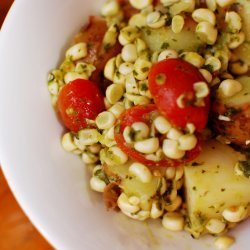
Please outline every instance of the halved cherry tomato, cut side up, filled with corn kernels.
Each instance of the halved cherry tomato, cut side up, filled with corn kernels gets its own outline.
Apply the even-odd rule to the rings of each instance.
[[[201,152],[200,138],[198,138],[198,143],[196,147],[190,151],[187,151],[183,159],[181,160],[172,160],[167,157],[164,159],[155,162],[148,160],[145,154],[142,154],[136,151],[131,145],[129,145],[124,137],[123,131],[127,126],[131,126],[135,122],[144,122],[147,125],[152,124],[152,118],[159,114],[159,111],[154,104],[135,106],[126,110],[119,118],[120,124],[115,129],[115,140],[118,147],[126,153],[130,158],[135,161],[138,161],[149,167],[177,167],[183,163],[190,162],[194,160]]]

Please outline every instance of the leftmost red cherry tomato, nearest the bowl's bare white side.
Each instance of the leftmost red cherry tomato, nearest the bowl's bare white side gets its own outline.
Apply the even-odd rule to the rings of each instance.
[[[57,106],[64,125],[74,132],[88,127],[86,119],[95,119],[105,109],[97,85],[83,79],[74,80],[62,88]]]

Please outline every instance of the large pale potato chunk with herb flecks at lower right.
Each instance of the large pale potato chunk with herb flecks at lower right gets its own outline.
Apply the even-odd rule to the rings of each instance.
[[[204,232],[208,219],[222,218],[225,208],[250,203],[250,179],[234,173],[241,157],[229,146],[210,141],[192,166],[185,167],[189,231],[195,237]]]

